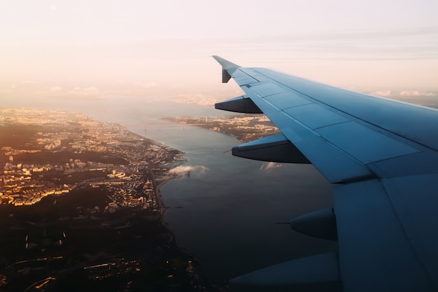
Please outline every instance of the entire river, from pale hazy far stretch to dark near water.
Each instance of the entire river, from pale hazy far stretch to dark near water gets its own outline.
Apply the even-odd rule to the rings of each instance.
[[[229,150],[239,144],[236,139],[196,126],[170,126],[174,123],[158,119],[218,116],[224,112],[206,106],[126,98],[39,99],[24,105],[16,99],[2,100],[2,106],[14,104],[87,113],[184,151],[188,162],[181,171],[190,169],[190,176],[172,179],[161,188],[164,203],[170,207],[165,221],[180,246],[194,254],[216,281],[225,282],[252,270],[336,247],[332,242],[294,232],[288,225],[275,224],[332,206],[330,183],[312,165],[235,158]]]

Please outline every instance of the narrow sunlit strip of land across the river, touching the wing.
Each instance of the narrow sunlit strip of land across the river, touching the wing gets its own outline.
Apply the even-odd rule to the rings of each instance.
[[[241,114],[222,118],[199,117],[164,117],[176,123],[199,125],[211,131],[221,132],[235,137],[239,141],[248,142],[269,135],[280,134],[280,130],[264,115]]]

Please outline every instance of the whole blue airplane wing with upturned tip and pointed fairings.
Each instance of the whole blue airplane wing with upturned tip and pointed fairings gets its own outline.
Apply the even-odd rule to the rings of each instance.
[[[264,113],[282,132],[236,146],[233,155],[312,163],[334,184],[334,207],[291,225],[339,245],[230,285],[438,291],[438,111],[213,57],[222,82],[233,78],[245,92],[216,108]]]

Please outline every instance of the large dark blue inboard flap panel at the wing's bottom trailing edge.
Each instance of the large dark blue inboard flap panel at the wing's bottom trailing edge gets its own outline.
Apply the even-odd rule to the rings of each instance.
[[[335,186],[334,200],[346,291],[434,291],[380,181]]]

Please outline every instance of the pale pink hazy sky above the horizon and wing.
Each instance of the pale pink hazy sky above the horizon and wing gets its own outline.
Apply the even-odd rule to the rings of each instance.
[[[211,55],[438,98],[437,13],[436,0],[0,0],[0,102],[239,95]]]

